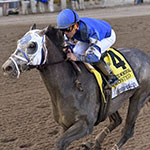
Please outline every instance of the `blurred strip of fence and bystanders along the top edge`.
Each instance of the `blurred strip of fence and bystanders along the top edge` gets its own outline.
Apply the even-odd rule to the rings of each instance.
[[[49,13],[64,8],[85,10],[145,3],[150,3],[150,0],[0,0],[0,16]]]

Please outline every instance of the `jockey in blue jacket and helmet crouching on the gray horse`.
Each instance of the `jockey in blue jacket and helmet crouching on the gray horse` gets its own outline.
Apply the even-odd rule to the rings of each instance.
[[[101,57],[116,41],[115,32],[108,22],[79,18],[74,10],[64,9],[57,16],[56,28],[64,32],[65,46],[70,48],[67,53],[69,60],[92,63],[108,77],[111,86],[118,82],[118,78]]]

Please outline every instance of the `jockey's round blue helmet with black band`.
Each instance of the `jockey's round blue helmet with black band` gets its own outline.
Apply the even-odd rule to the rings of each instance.
[[[66,29],[79,21],[79,15],[72,9],[64,9],[57,16],[57,29]]]

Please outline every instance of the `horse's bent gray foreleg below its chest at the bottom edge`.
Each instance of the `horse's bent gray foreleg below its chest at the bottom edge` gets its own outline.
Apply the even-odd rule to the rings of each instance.
[[[69,144],[71,144],[74,140],[88,135],[90,132],[92,132],[92,130],[89,129],[86,121],[77,121],[57,140],[56,150],[66,150]]]

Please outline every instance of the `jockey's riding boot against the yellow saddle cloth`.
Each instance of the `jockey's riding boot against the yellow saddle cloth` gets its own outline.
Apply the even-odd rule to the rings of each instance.
[[[110,66],[103,59],[101,59],[98,63],[95,63],[95,65],[108,77],[108,83],[111,86],[118,83],[118,78],[113,74]]]

